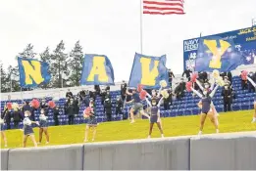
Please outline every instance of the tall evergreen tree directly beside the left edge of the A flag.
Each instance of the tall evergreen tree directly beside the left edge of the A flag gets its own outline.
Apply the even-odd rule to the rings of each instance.
[[[83,53],[82,48],[79,45],[79,41],[77,41],[75,48],[72,50],[70,54],[72,73],[70,77],[72,86],[79,86],[79,80],[81,76],[82,63],[83,63]]]

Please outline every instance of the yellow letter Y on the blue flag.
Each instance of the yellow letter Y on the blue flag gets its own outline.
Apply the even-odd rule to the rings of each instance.
[[[230,43],[224,40],[220,40],[221,47],[217,47],[217,40],[204,40],[204,44],[213,53],[212,60],[209,63],[211,68],[221,68],[222,67],[222,56],[230,48]]]

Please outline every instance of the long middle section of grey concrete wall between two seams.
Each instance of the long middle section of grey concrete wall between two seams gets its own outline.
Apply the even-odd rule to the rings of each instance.
[[[187,170],[188,164],[189,138],[84,146],[85,170]]]

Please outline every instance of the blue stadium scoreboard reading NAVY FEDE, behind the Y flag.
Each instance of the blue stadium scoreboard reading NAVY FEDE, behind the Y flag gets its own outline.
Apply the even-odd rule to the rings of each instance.
[[[209,35],[220,36],[223,40],[232,39],[235,49],[242,57],[243,64],[254,64],[256,61],[256,26],[234,31]],[[209,37],[203,36],[201,38]],[[200,37],[183,41],[183,69],[194,69]]]

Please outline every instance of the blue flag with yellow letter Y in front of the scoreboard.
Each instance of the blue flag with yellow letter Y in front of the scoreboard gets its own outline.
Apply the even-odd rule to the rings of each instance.
[[[209,36],[199,39],[195,71],[225,72],[243,64],[239,52],[236,51],[232,39],[223,40],[219,36]]]

